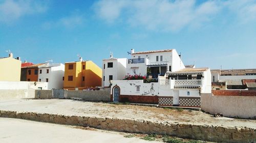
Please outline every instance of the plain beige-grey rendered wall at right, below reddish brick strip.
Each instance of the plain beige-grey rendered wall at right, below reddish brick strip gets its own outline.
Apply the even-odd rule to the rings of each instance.
[[[201,109],[225,117],[256,119],[256,96],[214,96],[201,94]]]

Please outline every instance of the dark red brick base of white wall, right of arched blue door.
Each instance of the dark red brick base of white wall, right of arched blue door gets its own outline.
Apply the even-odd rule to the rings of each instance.
[[[158,96],[120,95],[119,102],[158,104]]]

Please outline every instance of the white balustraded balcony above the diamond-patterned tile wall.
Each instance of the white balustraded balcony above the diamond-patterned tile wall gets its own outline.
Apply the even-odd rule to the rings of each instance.
[[[159,79],[158,82],[159,85],[170,86],[170,89],[198,89],[203,86],[203,78],[187,80]]]

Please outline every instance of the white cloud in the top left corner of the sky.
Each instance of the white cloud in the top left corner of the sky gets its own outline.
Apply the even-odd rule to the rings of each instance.
[[[43,3],[42,1],[2,1],[2,3],[0,2],[0,22],[13,22],[24,15],[42,13],[46,10],[47,4]]]

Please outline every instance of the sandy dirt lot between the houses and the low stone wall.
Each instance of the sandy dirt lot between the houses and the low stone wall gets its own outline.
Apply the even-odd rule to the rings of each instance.
[[[0,101],[0,110],[45,112],[62,115],[109,117],[147,121],[167,121],[170,123],[247,127],[256,129],[256,120],[232,119],[226,117],[215,118],[212,115],[196,110],[84,102],[66,99],[19,99]]]

